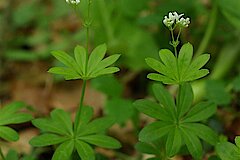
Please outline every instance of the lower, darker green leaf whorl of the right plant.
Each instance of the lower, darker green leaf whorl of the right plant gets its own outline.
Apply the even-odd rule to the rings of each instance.
[[[140,112],[158,120],[141,130],[139,140],[149,143],[166,137],[165,149],[169,157],[177,154],[185,144],[195,159],[201,159],[202,145],[199,139],[211,145],[218,142],[216,133],[200,123],[216,112],[216,105],[200,102],[191,107],[193,91],[189,83],[180,85],[176,103],[161,84],[153,85],[153,93],[159,103],[147,99],[134,103]]]

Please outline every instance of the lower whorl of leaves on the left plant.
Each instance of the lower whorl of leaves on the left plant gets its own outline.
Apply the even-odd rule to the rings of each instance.
[[[52,160],[68,160],[76,149],[81,159],[94,160],[95,154],[91,145],[104,148],[119,148],[121,144],[104,132],[113,123],[109,117],[90,121],[93,115],[91,107],[83,107],[80,122],[73,128],[70,115],[55,109],[50,118],[39,118],[32,121],[42,134],[31,139],[30,144],[35,147],[58,145]]]

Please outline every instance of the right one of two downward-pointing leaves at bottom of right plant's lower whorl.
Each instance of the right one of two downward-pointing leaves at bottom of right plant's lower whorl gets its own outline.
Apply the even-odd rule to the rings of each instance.
[[[181,135],[184,139],[185,144],[187,145],[190,154],[194,157],[194,159],[201,160],[203,151],[201,142],[198,137],[185,128],[181,128]]]

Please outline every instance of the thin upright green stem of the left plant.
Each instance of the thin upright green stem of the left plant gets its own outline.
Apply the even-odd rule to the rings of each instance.
[[[85,73],[87,73],[87,66],[88,66],[88,56],[89,56],[89,36],[90,36],[90,25],[91,25],[91,20],[90,20],[90,8],[91,8],[91,0],[88,0],[88,11],[87,11],[87,20],[85,22],[85,27],[87,29],[87,33],[86,33],[86,63],[85,63]],[[76,113],[76,117],[75,117],[75,123],[74,123],[74,132],[77,131],[77,126],[80,122],[80,116],[81,116],[81,111],[82,111],[82,107],[83,107],[83,101],[84,101],[84,96],[85,96],[85,91],[86,91],[86,84],[87,84],[87,80],[83,80],[83,84],[82,84],[82,92],[81,92],[81,98],[80,98],[80,103],[79,103],[79,107]]]

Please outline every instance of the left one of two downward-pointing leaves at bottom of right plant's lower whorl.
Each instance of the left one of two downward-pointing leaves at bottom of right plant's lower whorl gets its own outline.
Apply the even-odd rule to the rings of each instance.
[[[178,153],[182,146],[181,131],[178,127],[171,130],[167,137],[166,153],[169,157],[172,157]]]

